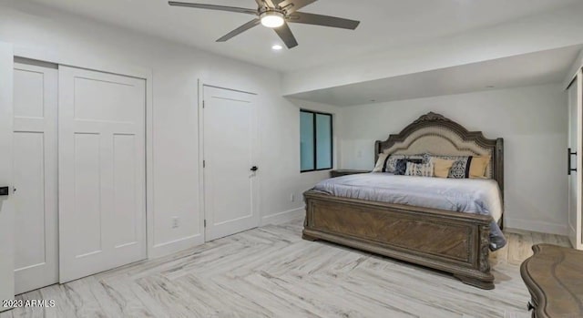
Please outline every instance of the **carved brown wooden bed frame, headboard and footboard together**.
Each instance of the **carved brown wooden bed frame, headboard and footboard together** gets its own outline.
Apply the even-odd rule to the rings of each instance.
[[[487,174],[504,193],[503,139],[485,138],[482,132],[470,132],[432,112],[399,134],[377,140],[374,159],[381,152],[414,154],[423,153],[419,152],[423,149],[442,155],[492,156]],[[490,216],[334,197],[314,190],[303,195],[305,240],[332,241],[372,251],[450,272],[479,288],[494,289],[488,262]]]

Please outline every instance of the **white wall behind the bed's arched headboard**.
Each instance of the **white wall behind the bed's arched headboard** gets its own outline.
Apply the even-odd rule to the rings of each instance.
[[[340,167],[373,168],[373,144],[434,111],[504,138],[506,226],[567,233],[567,95],[520,87],[343,108]]]

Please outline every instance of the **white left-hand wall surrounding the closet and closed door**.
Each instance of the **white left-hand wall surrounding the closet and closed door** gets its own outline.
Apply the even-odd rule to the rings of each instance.
[[[16,53],[48,56],[61,64],[110,69],[123,65],[152,72],[154,240],[149,243],[154,248],[150,257],[199,243],[194,236],[203,230],[198,189],[199,78],[259,94],[263,222],[302,210],[300,191],[307,181],[300,174],[299,110],[281,97],[279,73],[22,2],[0,5],[0,41],[14,43]],[[180,218],[178,229],[171,227],[174,216]]]

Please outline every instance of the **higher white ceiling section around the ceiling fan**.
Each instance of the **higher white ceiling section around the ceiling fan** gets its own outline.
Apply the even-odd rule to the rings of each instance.
[[[170,7],[164,0],[27,1],[196,46],[222,56],[290,71],[493,26],[580,0],[319,0],[301,11],[360,20],[361,25],[355,31],[348,31],[294,24],[292,31],[300,46],[280,52],[271,51],[271,45],[280,43],[278,36],[263,26],[229,42],[215,42],[251,20],[251,15]],[[256,6],[253,0],[190,2]]]

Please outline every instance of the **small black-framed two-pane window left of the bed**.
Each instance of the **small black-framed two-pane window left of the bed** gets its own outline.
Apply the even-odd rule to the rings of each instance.
[[[300,111],[302,172],[332,169],[332,115]]]

